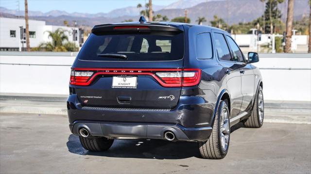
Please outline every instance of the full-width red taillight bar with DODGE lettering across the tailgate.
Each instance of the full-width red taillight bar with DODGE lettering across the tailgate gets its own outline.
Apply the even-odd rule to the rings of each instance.
[[[70,84],[87,86],[98,75],[148,75],[164,87],[189,87],[198,85],[201,69],[118,69],[118,68],[74,68],[71,70]]]

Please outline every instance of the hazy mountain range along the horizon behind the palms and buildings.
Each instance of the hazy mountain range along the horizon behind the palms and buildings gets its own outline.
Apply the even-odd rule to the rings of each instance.
[[[187,9],[191,23],[196,23],[195,20],[200,16],[207,19],[207,22],[203,22],[203,24],[209,25],[209,21],[213,19],[214,15],[223,18],[228,24],[252,21],[263,14],[264,6],[265,4],[260,0],[179,0],[168,6],[153,5],[153,9],[155,15],[161,14],[169,19],[184,16],[185,9]],[[287,0],[279,4],[278,8],[282,13],[282,20],[285,21]],[[76,21],[79,26],[92,27],[97,24],[116,23],[128,19],[138,20],[139,11],[143,9],[132,6],[97,14],[68,13],[58,10],[47,13],[29,11],[29,16],[30,19],[45,20],[47,25],[64,25],[64,20],[67,20],[70,25],[73,25],[73,21]],[[303,16],[309,16],[309,11],[308,0],[294,1],[294,18],[296,20],[301,19]],[[18,13],[17,10],[0,7],[0,16],[17,17],[23,15],[24,11]]]

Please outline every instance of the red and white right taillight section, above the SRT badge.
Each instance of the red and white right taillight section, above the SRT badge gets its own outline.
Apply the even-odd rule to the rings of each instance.
[[[157,72],[155,73],[165,87],[188,87],[199,84],[201,69],[184,69],[180,72]]]

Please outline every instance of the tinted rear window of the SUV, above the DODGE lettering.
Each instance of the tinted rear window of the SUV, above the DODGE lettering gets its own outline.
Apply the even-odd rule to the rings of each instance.
[[[127,60],[103,57],[100,54],[126,55]],[[183,57],[184,33],[178,32],[174,35],[91,33],[78,58],[88,61],[174,61]]]

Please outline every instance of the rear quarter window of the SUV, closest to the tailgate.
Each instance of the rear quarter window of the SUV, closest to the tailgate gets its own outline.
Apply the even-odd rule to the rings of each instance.
[[[196,57],[198,59],[211,59],[213,56],[213,49],[211,43],[210,33],[200,33],[196,35]]]

